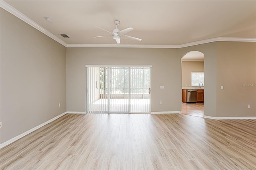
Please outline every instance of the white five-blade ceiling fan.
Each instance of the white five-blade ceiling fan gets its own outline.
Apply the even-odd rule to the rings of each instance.
[[[113,32],[109,32],[103,28],[100,28],[98,26],[95,26],[96,28],[99,28],[101,30],[104,30],[110,34],[112,34],[112,36],[96,36],[96,37],[93,37],[93,38],[98,38],[98,37],[113,37],[114,40],[116,40],[116,43],[120,43],[120,38],[123,38],[123,39],[128,39],[128,40],[137,40],[137,41],[141,41],[140,38],[135,38],[135,37],[132,37],[132,36],[126,36],[124,34],[130,32],[133,30],[133,28],[126,28],[124,30],[118,30],[117,26],[120,24],[120,21],[116,20],[114,21],[114,24],[116,25],[116,28],[113,30]]]

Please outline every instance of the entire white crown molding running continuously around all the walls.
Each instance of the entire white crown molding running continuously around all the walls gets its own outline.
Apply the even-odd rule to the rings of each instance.
[[[8,3],[4,2],[4,0],[0,0],[0,7],[4,10],[10,12],[20,20],[26,22],[30,26],[36,28],[38,31],[42,32],[46,36],[52,38],[56,42],[64,45],[68,48],[76,48],[76,47],[105,47],[105,48],[183,48],[183,47],[190,47],[193,45],[200,45],[204,43],[210,42],[256,42],[256,38],[232,38],[232,37],[218,37],[218,38],[211,38],[207,40],[201,40],[196,42],[184,43],[180,45],[142,45],[142,44],[67,44],[62,41],[60,38],[56,37],[54,34],[50,33],[42,26],[38,25],[36,22],[10,6]]]

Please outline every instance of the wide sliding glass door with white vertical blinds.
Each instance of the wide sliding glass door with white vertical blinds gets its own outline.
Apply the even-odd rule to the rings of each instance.
[[[87,113],[150,113],[151,66],[86,66]]]

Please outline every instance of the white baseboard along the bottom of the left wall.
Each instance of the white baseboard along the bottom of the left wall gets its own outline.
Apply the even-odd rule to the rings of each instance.
[[[6,145],[8,145],[8,144],[10,144],[10,143],[12,143],[12,142],[15,142],[16,140],[22,138],[23,136],[26,136],[27,134],[29,134],[29,133],[31,133],[31,132],[37,130],[37,129],[40,128],[40,127],[43,127],[44,125],[47,125],[48,123],[50,123],[50,122],[52,122],[52,121],[54,121],[54,120],[56,120],[56,119],[62,117],[63,115],[66,115],[66,112],[65,112],[65,113],[62,113],[62,114],[60,114],[60,115],[58,115],[58,116],[56,116],[56,117],[54,117],[54,118],[52,118],[52,119],[50,119],[49,121],[46,121],[46,122],[42,123],[41,125],[38,125],[37,127],[34,127],[34,128],[32,128],[32,129],[26,131],[26,132],[24,132],[24,133],[22,133],[22,134],[20,134],[20,135],[18,135],[18,136],[16,136],[16,137],[14,137],[14,138],[11,138],[10,140],[7,140],[6,142],[0,144],[0,148],[3,148],[4,146],[6,146]]]

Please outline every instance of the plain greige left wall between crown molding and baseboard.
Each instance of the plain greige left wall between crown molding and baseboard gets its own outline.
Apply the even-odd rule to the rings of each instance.
[[[0,12],[3,143],[66,112],[66,47]]]

